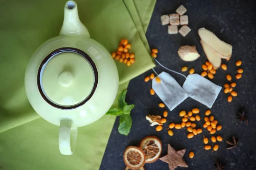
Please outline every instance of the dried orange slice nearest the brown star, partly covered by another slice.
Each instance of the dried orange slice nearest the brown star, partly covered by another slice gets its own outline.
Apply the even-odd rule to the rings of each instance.
[[[139,147],[146,156],[146,163],[157,161],[162,153],[162,142],[155,136],[146,136],[140,141]]]

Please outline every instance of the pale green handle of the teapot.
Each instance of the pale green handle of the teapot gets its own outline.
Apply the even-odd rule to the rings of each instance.
[[[59,128],[59,150],[63,155],[72,155],[76,147],[77,127],[71,119],[61,119]]]

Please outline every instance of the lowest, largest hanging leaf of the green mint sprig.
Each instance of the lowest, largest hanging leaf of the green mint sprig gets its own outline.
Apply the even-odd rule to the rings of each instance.
[[[129,114],[123,114],[120,116],[118,131],[120,134],[127,136],[131,129],[131,116]]]

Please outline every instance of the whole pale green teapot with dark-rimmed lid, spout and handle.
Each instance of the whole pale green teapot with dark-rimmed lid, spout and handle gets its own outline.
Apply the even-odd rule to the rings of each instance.
[[[42,118],[60,126],[62,154],[74,152],[77,127],[95,122],[111,108],[118,82],[111,54],[90,38],[79,20],[77,4],[68,1],[60,35],[35,51],[25,74],[32,107]]]

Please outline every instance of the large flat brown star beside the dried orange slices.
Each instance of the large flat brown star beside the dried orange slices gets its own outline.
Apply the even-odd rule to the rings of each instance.
[[[168,144],[168,154],[161,157],[160,160],[169,164],[169,170],[175,170],[176,167],[189,167],[182,158],[185,152],[186,149],[176,151]]]

